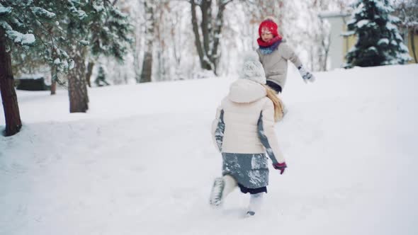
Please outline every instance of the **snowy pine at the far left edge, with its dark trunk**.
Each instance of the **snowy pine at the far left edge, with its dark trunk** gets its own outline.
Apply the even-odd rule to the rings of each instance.
[[[22,125],[13,86],[11,52],[17,48],[33,47],[42,54],[45,52],[45,47],[55,47],[55,38],[52,35],[46,41],[35,40],[40,35],[49,34],[48,28],[54,25],[53,19],[56,16],[50,8],[55,5],[57,4],[48,1],[0,1],[0,88],[6,120],[6,136],[16,134]],[[50,57],[50,62],[53,61],[61,69],[71,67],[68,55],[58,47],[55,47],[54,57]]]

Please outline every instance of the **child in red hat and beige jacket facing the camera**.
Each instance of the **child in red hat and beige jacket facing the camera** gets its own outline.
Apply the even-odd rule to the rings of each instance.
[[[266,84],[276,93],[281,93],[286,84],[288,60],[298,67],[303,81],[315,81],[315,77],[302,66],[299,57],[283,41],[277,28],[278,26],[272,17],[266,18],[259,25],[259,38],[257,39],[259,49],[256,51],[266,73]]]

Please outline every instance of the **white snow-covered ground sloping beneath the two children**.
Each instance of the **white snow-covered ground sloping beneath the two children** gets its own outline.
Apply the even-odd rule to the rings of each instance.
[[[23,128],[0,137],[0,234],[418,234],[418,65],[292,69],[262,211],[235,190],[208,207],[221,157],[210,122],[233,78],[18,91]],[[3,109],[0,127],[4,128]]]

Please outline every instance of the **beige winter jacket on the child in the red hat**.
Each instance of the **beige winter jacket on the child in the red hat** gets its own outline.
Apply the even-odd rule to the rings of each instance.
[[[264,55],[260,52],[260,49],[257,49],[256,52],[259,54],[261,64],[263,64],[267,81],[273,81],[274,83],[280,85],[281,88],[284,88],[286,84],[288,60],[293,62],[296,67],[300,67],[302,65],[299,57],[286,44],[286,42],[281,42],[277,49],[271,52],[271,54]]]

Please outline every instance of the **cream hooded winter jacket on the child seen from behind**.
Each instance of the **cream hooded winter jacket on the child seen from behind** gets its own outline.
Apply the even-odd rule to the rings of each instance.
[[[231,85],[230,93],[222,100],[215,120],[213,120],[212,136],[215,145],[217,145],[215,132],[220,123],[222,110],[223,122],[225,123],[220,149],[222,152],[234,154],[266,153],[266,148],[259,137],[259,123],[261,123],[262,132],[270,146],[268,150],[272,151],[273,157],[278,162],[283,163],[285,161],[274,130],[273,102],[266,97],[264,86],[248,79],[238,79]],[[261,120],[259,120],[260,117]]]

